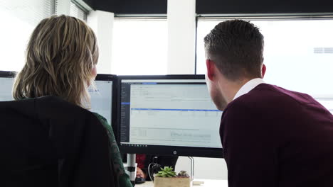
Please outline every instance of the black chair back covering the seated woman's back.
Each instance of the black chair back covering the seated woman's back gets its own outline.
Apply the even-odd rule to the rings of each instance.
[[[109,144],[93,113],[55,96],[0,102],[0,186],[117,186]]]

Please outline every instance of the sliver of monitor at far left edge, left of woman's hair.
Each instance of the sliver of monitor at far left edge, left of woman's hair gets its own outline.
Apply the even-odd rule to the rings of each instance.
[[[12,89],[15,72],[0,71],[0,101],[13,101]]]

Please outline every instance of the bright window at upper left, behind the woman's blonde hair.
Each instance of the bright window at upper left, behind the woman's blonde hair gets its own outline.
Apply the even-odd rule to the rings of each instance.
[[[55,11],[54,0],[0,1],[0,70],[19,71],[28,39],[43,18]]]

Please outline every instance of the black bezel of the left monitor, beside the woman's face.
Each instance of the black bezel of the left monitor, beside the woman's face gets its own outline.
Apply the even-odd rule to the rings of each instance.
[[[95,81],[112,81],[112,103],[111,103],[111,127],[114,134],[117,135],[117,75],[115,74],[97,74]],[[116,137],[117,138],[117,137]]]

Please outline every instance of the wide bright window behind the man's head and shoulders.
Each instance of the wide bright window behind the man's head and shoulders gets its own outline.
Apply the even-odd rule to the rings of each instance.
[[[206,73],[203,38],[220,20],[200,20],[197,74]],[[317,98],[333,112],[333,19],[253,20],[265,38],[265,81]]]

